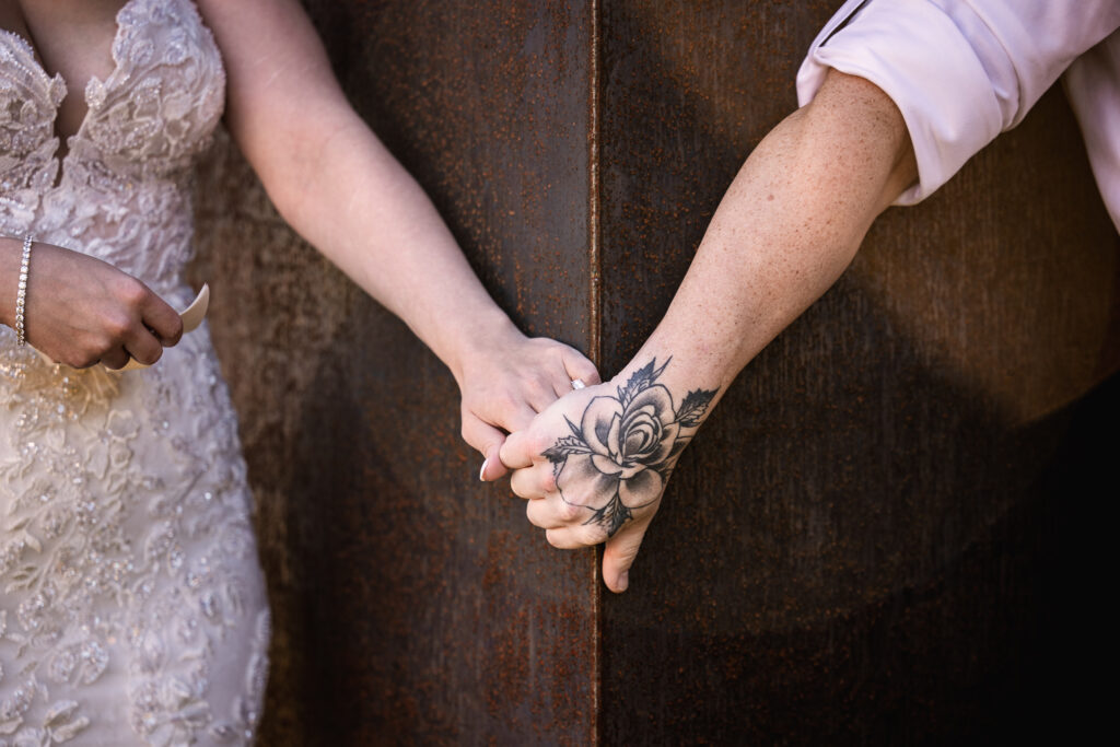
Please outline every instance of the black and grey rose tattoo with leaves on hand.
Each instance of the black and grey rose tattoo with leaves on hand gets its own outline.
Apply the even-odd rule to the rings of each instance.
[[[544,456],[552,463],[564,502],[589,508],[585,524],[599,524],[614,536],[634,508],[655,502],[665,487],[676,456],[692,439],[683,431],[700,426],[719,390],[693,390],[673,407],[673,395],[654,383],[672,358],[656,360],[634,372],[617,396],[592,399],[571,436]]]

